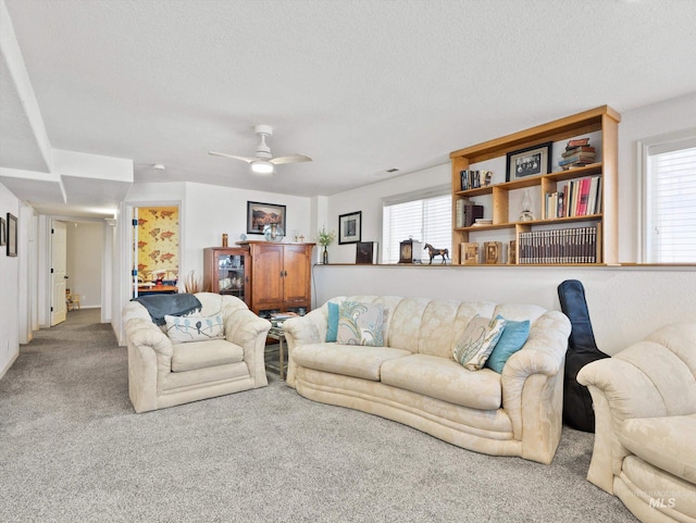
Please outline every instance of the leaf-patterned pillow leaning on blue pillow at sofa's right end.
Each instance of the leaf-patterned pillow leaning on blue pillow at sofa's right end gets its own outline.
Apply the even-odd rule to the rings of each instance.
[[[498,343],[504,328],[502,316],[488,320],[476,314],[467,325],[452,351],[452,358],[469,371],[480,371]]]

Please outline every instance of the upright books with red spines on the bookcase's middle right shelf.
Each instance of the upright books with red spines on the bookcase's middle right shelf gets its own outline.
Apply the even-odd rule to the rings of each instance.
[[[601,213],[601,176],[585,176],[560,185],[546,194],[546,216],[588,216]]]

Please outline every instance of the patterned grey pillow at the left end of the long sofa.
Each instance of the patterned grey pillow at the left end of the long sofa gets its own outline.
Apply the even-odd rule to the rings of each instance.
[[[384,306],[344,301],[338,314],[336,341],[384,347]]]

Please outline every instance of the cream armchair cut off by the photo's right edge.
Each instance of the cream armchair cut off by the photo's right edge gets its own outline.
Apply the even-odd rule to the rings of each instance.
[[[587,480],[646,523],[696,522],[696,323],[664,326],[577,381],[595,408]]]

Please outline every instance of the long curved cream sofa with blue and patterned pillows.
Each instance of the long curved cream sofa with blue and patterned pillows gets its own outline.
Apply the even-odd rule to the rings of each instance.
[[[325,303],[285,322],[287,384],[309,399],[398,421],[453,445],[550,463],[561,434],[570,321],[537,306],[353,296],[387,310],[386,347],[325,343]],[[532,322],[502,374],[465,370],[451,354],[475,315]]]

